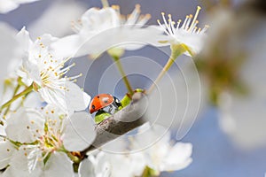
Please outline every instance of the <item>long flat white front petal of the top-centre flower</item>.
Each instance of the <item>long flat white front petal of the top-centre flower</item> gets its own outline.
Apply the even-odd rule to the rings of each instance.
[[[84,40],[82,43],[80,49],[77,51],[77,55],[97,55],[113,47],[126,50],[140,49],[145,45],[155,42],[154,38],[159,35],[159,31],[150,29],[113,27],[94,35],[85,35],[83,39],[86,41]]]

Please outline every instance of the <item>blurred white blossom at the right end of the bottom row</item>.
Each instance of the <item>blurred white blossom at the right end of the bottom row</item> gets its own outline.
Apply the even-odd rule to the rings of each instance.
[[[181,170],[192,163],[192,144],[176,142],[172,145],[168,130],[158,125],[140,127],[132,146],[141,150],[145,165],[157,174]]]

